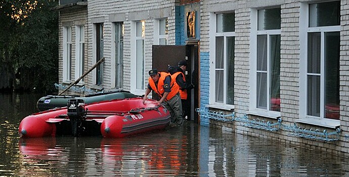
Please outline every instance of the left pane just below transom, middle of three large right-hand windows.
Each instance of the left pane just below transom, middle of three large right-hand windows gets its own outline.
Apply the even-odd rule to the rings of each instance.
[[[267,35],[257,36],[257,70],[267,71]]]

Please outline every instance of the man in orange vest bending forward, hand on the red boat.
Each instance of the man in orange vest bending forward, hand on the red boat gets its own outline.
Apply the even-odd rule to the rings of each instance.
[[[147,96],[153,90],[159,95],[160,100],[158,103],[162,103],[171,113],[171,122],[175,122],[178,125],[182,125],[182,103],[181,96],[179,94],[179,86],[171,79],[171,75],[166,72],[157,72],[157,69],[149,71],[149,83],[145,95],[143,97],[143,104],[147,100]]]

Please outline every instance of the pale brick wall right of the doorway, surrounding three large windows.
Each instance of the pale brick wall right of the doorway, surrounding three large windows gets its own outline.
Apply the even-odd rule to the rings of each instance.
[[[348,1],[341,1],[341,32],[340,32],[340,129],[339,140],[334,142],[320,141],[314,139],[306,139],[297,136],[292,136],[292,132],[287,128],[297,123],[298,126],[307,129],[319,129],[327,130],[327,132],[335,132],[335,128],[323,127],[316,124],[304,124],[299,120],[299,100],[300,100],[300,25],[302,22],[300,19],[300,7],[301,3],[319,3],[319,1],[299,1],[299,0],[287,0],[287,1],[201,1],[201,38],[200,38],[200,69],[201,69],[201,92],[200,99],[201,107],[205,107],[209,103],[209,96],[214,94],[210,91],[210,79],[209,71],[214,69],[214,64],[210,63],[210,56],[214,57],[215,54],[210,53],[210,49],[214,48],[212,40],[212,28],[210,26],[210,19],[212,14],[234,12],[235,13],[235,95],[234,95],[234,112],[237,117],[242,117],[247,114],[249,119],[260,119],[265,122],[270,121],[272,123],[277,122],[275,118],[269,118],[259,115],[249,114],[250,109],[250,97],[251,97],[251,78],[250,78],[250,65],[251,65],[251,28],[255,22],[251,21],[251,9],[264,9],[264,8],[281,8],[281,60],[280,60],[280,98],[281,98],[281,119],[282,124],[285,127],[277,131],[268,131],[263,129],[256,129],[251,127],[242,126],[243,123],[239,122],[225,122],[219,120],[210,119],[208,122],[213,127],[230,127],[232,131],[239,134],[246,134],[253,137],[263,137],[275,140],[277,142],[292,144],[295,146],[303,146],[309,149],[316,149],[326,151],[329,153],[344,155],[347,153],[347,147],[349,143],[347,140],[348,134],[348,113],[347,105],[349,100],[347,98],[348,83],[348,67],[347,65],[347,20],[348,18]],[[211,17],[210,17],[211,15]],[[212,73],[212,72],[211,72]],[[226,111],[224,109],[212,109],[212,111]],[[229,111],[228,111],[229,112]],[[286,127],[287,126],[287,127]],[[228,128],[229,129],[229,128]]]

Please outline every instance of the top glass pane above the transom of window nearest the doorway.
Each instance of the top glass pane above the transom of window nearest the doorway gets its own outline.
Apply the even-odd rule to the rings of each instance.
[[[235,31],[235,13],[217,14],[217,32]]]

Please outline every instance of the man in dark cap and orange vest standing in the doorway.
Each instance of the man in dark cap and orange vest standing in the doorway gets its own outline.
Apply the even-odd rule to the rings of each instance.
[[[184,72],[187,70],[187,61],[181,60],[178,62],[178,66],[169,66],[168,72],[171,74],[171,78],[176,80],[177,84],[180,86],[180,95],[182,102],[182,110],[183,110],[183,118],[190,120],[189,116],[189,108],[190,105],[188,103],[188,91],[194,88],[194,85],[186,82],[186,78]]]

